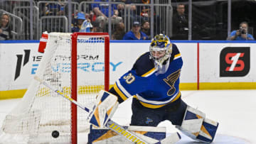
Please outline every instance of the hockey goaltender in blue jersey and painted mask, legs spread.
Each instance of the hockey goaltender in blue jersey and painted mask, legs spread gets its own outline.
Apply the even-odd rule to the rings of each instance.
[[[177,46],[171,43],[168,36],[156,35],[151,40],[149,52],[141,55],[132,70],[122,75],[109,92],[103,93],[112,97],[112,104],[105,103],[99,94],[93,115],[89,119],[96,117],[95,125],[102,123],[106,115],[111,117],[118,104],[133,97],[130,126],[147,128],[147,132],[150,132],[155,131],[161,121],[168,120],[190,138],[211,143],[218,122],[209,120],[205,113],[181,99],[179,78],[182,65],[183,60]],[[100,129],[95,131],[102,135],[105,133]]]

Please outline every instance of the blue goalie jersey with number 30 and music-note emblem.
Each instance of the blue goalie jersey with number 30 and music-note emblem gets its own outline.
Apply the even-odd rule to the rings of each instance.
[[[122,101],[134,96],[143,106],[151,109],[171,104],[181,96],[179,77],[182,65],[181,54],[174,44],[171,57],[164,62],[161,70],[156,70],[154,60],[146,52],[137,59],[132,70],[115,82],[110,92]]]

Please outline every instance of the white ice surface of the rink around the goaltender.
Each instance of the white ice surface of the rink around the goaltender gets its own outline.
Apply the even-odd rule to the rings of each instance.
[[[181,91],[181,95],[186,104],[203,111],[207,118],[220,123],[214,144],[256,144],[256,90]],[[6,114],[18,101],[20,99],[0,101],[0,126]],[[131,99],[128,99],[119,105],[112,120],[121,125],[129,125],[131,115]],[[169,121],[164,121],[159,126],[165,126],[167,133],[178,131]],[[80,137],[78,142],[86,143],[86,138]],[[187,143],[196,142],[181,134],[178,144]]]

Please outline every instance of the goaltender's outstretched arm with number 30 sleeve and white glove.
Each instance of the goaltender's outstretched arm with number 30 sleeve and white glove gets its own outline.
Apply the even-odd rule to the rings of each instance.
[[[105,126],[119,103],[143,91],[145,87],[147,84],[143,77],[137,76],[133,70],[127,72],[117,80],[110,92],[101,91],[97,95],[87,121],[98,127]]]

